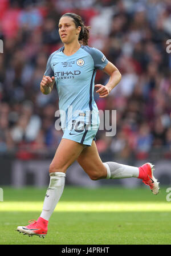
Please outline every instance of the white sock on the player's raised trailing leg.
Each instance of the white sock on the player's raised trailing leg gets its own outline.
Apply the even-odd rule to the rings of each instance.
[[[106,178],[131,178],[139,177],[139,168],[118,164],[117,162],[103,162],[105,168],[107,169],[107,177]]]

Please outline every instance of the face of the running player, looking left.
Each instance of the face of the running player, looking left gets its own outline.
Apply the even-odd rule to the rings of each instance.
[[[75,39],[78,40],[81,27],[76,27],[74,20],[71,17],[64,16],[59,21],[59,35],[63,43],[72,43]]]

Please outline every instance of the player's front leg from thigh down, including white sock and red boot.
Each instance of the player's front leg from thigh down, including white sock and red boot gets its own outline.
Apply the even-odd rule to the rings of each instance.
[[[17,231],[27,235],[39,235],[39,237],[44,238],[47,234],[48,220],[54,212],[64,189],[66,170],[85,147],[85,145],[72,140],[61,140],[50,164],[50,184],[44,198],[42,213],[37,221],[28,226],[18,226]]]

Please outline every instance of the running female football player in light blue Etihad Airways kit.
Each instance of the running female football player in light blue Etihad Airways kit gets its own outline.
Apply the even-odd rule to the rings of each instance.
[[[153,176],[154,165],[150,163],[138,168],[101,161],[95,144],[99,113],[93,91],[95,87],[99,97],[107,97],[119,83],[121,74],[101,51],[87,46],[88,27],[78,15],[66,13],[60,18],[59,35],[64,46],[50,55],[40,90],[50,94],[56,82],[64,134],[50,164],[50,184],[42,213],[37,221],[17,228],[24,234],[43,238],[47,234],[48,220],[63,193],[66,170],[75,160],[92,180],[136,177],[149,185],[153,194],[158,194],[159,189]],[[109,75],[105,86],[94,85],[97,69]]]

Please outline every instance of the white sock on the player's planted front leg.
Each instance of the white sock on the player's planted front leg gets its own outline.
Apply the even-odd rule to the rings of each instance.
[[[44,198],[43,210],[40,217],[49,220],[54,212],[56,204],[62,196],[66,174],[63,172],[50,173],[50,185],[48,186],[46,196]]]

